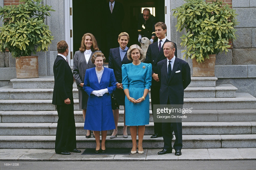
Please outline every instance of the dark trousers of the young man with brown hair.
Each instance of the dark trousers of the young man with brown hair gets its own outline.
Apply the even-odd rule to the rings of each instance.
[[[151,88],[150,88],[151,107],[152,107],[153,114],[154,114],[154,112],[153,112],[154,104],[160,104],[159,90],[160,90],[160,87],[158,87],[158,86],[151,86]],[[154,133],[158,134],[158,136],[162,136],[162,123],[154,122]]]

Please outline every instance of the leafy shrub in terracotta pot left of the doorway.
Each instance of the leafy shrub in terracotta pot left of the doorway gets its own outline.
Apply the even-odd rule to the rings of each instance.
[[[53,40],[45,18],[54,10],[41,1],[22,0],[19,5],[0,7],[0,51],[9,50],[16,58],[17,78],[38,77],[38,56],[31,54],[47,51]]]

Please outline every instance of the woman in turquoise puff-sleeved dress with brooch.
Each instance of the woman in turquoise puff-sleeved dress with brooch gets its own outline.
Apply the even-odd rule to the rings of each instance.
[[[122,66],[122,84],[125,93],[125,124],[130,126],[132,137],[131,153],[143,154],[142,140],[145,125],[149,124],[149,96],[152,65],[142,63],[143,50],[137,44],[127,51],[127,58],[132,61]],[[136,143],[138,127],[138,145]]]

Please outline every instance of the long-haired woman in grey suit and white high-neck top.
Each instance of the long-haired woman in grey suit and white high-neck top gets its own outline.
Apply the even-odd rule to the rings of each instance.
[[[83,82],[86,69],[95,67],[91,62],[92,55],[99,51],[95,37],[91,33],[86,33],[82,37],[79,51],[75,52],[73,58],[73,75],[78,89],[79,109],[83,109],[83,119],[85,120],[88,94],[83,90]],[[91,137],[91,131],[87,130],[86,138]]]

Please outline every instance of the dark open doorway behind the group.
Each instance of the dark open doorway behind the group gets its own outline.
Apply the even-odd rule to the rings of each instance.
[[[109,49],[107,48],[108,38],[104,30],[103,8],[105,8],[108,0],[83,0],[72,1],[73,6],[73,51],[79,50],[83,34],[92,33],[99,45],[100,50],[104,53],[108,61]],[[130,36],[128,47],[138,43],[137,22],[141,8],[155,7],[156,21],[165,22],[165,1],[164,0],[117,0],[122,3],[124,11],[124,19],[122,22],[122,31],[127,32]],[[118,36],[113,48],[118,47]],[[74,53],[73,53],[74,54]]]

